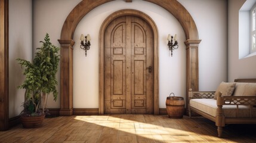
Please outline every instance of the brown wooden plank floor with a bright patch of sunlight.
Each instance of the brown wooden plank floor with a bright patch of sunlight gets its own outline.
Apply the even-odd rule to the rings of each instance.
[[[46,118],[41,128],[0,132],[0,142],[256,142],[256,125],[227,125],[223,135],[218,138],[214,122],[203,117],[69,116]]]

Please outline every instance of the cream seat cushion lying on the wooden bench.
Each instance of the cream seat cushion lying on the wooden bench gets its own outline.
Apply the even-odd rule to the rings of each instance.
[[[214,99],[192,99],[190,100],[190,106],[203,111],[213,117],[217,114],[217,100]],[[237,117],[236,105],[223,105],[223,112],[225,117],[235,118]],[[252,110],[252,117],[256,117],[256,109]],[[246,105],[239,105],[238,117],[249,118],[250,110]]]

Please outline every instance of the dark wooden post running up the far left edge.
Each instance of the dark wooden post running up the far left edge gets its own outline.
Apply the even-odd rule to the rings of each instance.
[[[9,128],[9,1],[0,0],[0,130]]]

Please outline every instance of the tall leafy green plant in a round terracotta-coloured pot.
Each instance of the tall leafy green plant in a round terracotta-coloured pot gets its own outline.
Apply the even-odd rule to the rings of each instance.
[[[48,33],[45,35],[41,48],[37,48],[33,62],[18,58],[18,64],[24,67],[24,75],[26,76],[21,89],[26,89],[23,111],[21,111],[21,123],[25,119],[33,120],[33,123],[24,125],[24,128],[33,128],[40,126],[45,117],[45,107],[49,94],[53,94],[54,101],[57,100],[57,79],[55,74],[58,70],[60,48],[54,46],[50,42]],[[40,107],[42,109],[40,109]],[[39,123],[34,123],[38,120]]]

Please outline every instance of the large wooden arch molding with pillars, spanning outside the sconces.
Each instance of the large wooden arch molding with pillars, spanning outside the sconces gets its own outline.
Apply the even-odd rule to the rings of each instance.
[[[73,114],[73,34],[79,21],[101,4],[115,0],[83,0],[69,13],[64,21],[61,36],[60,71],[60,115]],[[198,29],[195,21],[177,0],[144,0],[159,5],[169,11],[180,22],[186,35],[186,94],[189,88],[198,91]],[[188,98],[187,98],[188,100]]]

